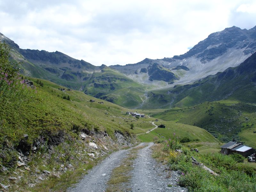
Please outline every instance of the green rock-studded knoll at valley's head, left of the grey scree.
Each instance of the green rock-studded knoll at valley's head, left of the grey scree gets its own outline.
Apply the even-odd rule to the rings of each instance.
[[[84,92],[123,107],[134,108],[142,103],[149,86],[138,84],[121,73],[104,67],[86,82]]]

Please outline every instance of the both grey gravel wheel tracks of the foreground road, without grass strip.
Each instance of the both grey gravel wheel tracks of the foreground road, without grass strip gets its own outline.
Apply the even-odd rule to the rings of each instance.
[[[129,187],[131,192],[154,191],[188,191],[177,186],[178,172],[167,171],[166,166],[156,162],[151,157],[151,149],[154,143],[140,143],[138,146],[148,145],[138,151],[137,158],[133,162],[132,180]],[[74,188],[68,188],[69,192],[103,192],[107,188],[107,182],[112,170],[121,164],[122,159],[129,153],[129,149],[112,153],[99,165],[93,167]],[[168,187],[168,184],[172,187]]]

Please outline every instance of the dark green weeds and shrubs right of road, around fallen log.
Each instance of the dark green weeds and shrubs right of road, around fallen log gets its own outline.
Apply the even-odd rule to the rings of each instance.
[[[188,144],[193,145],[193,143]],[[181,149],[182,152],[176,152],[175,149]],[[256,189],[255,164],[243,163],[244,157],[239,154],[227,156],[209,151],[196,153],[180,145],[178,140],[172,137],[171,140],[155,147],[153,156],[160,161],[167,161],[171,170],[179,170],[181,176],[178,184],[188,188],[189,191],[252,192]],[[214,176],[202,167],[193,164],[192,156],[197,162],[203,163],[219,176]]]

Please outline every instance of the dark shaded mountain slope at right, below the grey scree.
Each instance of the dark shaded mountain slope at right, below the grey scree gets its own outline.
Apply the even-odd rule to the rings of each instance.
[[[256,102],[256,53],[235,68],[207,76],[193,84],[149,93],[144,108],[190,107],[204,101],[224,99]]]

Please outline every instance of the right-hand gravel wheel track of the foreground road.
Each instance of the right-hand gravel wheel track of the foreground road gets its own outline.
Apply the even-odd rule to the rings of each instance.
[[[133,162],[131,191],[188,191],[177,185],[179,172],[168,171],[165,165],[152,158],[150,147],[153,145],[154,143],[148,143],[147,147],[140,149]],[[172,187],[168,187],[168,184]]]

